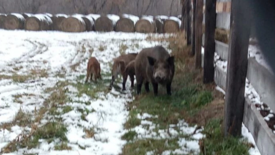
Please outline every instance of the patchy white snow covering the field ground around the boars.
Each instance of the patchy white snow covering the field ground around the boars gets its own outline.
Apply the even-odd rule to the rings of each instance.
[[[103,91],[108,87],[111,79],[110,66],[113,58],[120,55],[120,44],[126,44],[125,53],[135,53],[142,48],[161,44],[147,41],[147,35],[123,32],[32,32],[0,30],[0,125],[11,123],[20,111],[31,116],[33,123],[26,127],[18,122],[11,124],[11,128],[0,128],[0,149],[11,141],[24,139],[22,135],[33,133],[33,125],[42,128],[49,121],[65,124],[66,138],[71,150],[55,150],[61,143],[59,138],[52,141],[39,139],[40,144],[32,149],[19,147],[11,154],[119,154],[126,143],[120,137],[127,132],[123,129],[128,111],[125,104],[134,98],[131,95],[130,80],[127,81],[126,91],[121,92],[122,84],[117,82],[118,88]],[[138,46],[137,46],[138,45]],[[162,43],[167,47],[167,43]],[[84,85],[88,58],[95,56],[100,62],[103,84]],[[75,66],[74,68],[72,66]],[[45,74],[46,73],[46,74]],[[32,78],[28,77],[31,75]],[[63,76],[61,76],[63,75]],[[22,78],[25,78],[22,80]],[[63,86],[61,87],[63,83]],[[100,82],[99,82],[100,84]],[[102,91],[86,94],[100,87]],[[48,89],[50,88],[50,89]],[[60,89],[61,90],[60,90]],[[53,91],[48,91],[53,89]],[[101,90],[100,89],[100,90]],[[82,93],[81,93],[81,91]],[[56,113],[44,113],[39,121],[34,121],[38,111],[45,107],[47,99],[56,91],[58,97],[64,93],[68,100],[62,104],[56,102],[51,106],[57,107]],[[59,101],[59,100],[57,100]],[[70,107],[68,111],[64,111]],[[146,114],[142,115],[143,117]],[[143,118],[142,118],[143,119]],[[142,124],[152,123],[142,120]],[[174,128],[179,128],[176,132]],[[177,125],[171,125],[169,130],[173,135],[191,134],[195,127],[188,126],[184,120]],[[93,136],[89,137],[87,130],[93,129]],[[38,130],[38,129],[36,129]],[[141,127],[135,128],[140,137],[147,133]],[[150,129],[149,129],[150,130]],[[153,133],[153,132],[152,132]],[[167,131],[159,130],[159,137],[167,137]],[[148,136],[148,135],[146,135]],[[151,134],[151,136],[155,136]],[[203,135],[199,130],[190,139],[179,139],[181,149],[174,152],[184,153],[190,150],[199,151],[198,139]],[[25,136],[26,137],[26,136]],[[155,136],[155,138],[159,138]],[[84,148],[84,149],[83,149]],[[167,154],[171,150],[166,151]]]

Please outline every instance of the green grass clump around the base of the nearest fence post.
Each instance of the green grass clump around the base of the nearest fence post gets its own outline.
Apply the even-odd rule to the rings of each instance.
[[[249,155],[247,141],[241,141],[240,137],[223,137],[222,121],[220,119],[210,120],[204,127],[206,137],[203,139],[201,154],[242,154]]]

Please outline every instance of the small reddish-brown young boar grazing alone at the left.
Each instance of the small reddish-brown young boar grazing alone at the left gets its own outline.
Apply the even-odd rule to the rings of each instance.
[[[87,65],[87,75],[86,75],[86,80],[85,83],[88,82],[88,78],[90,76],[90,81],[93,80],[93,75],[94,75],[94,80],[96,81],[98,78],[102,80],[101,74],[100,74],[100,63],[95,57],[91,57],[88,61]]]

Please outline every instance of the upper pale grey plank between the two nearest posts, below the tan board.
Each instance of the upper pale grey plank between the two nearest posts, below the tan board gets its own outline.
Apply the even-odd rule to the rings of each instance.
[[[222,12],[217,13],[216,27],[220,29],[230,29],[230,13]]]

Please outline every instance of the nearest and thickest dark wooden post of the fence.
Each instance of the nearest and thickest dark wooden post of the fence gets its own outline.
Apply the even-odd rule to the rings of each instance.
[[[224,109],[224,136],[240,136],[242,131],[251,22],[248,3],[249,0],[232,1],[232,26],[230,29]]]

